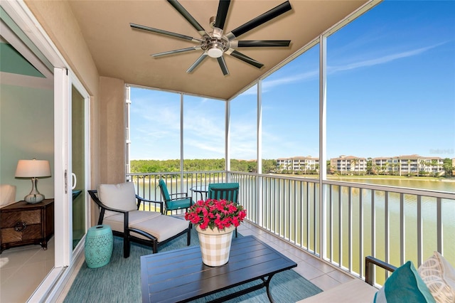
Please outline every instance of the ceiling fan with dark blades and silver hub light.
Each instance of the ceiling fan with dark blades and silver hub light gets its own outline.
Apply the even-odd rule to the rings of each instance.
[[[171,31],[164,31],[158,28],[151,28],[149,26],[141,26],[135,23],[129,23],[129,26],[132,28],[138,28],[144,31],[151,31],[153,33],[161,33],[163,35],[172,36],[176,38],[181,38],[184,40],[192,41],[199,43],[198,46],[193,46],[190,48],[181,48],[177,50],[168,50],[163,53],[155,53],[153,56],[161,57],[163,55],[173,55],[176,53],[185,53],[192,50],[203,50],[202,55],[196,60],[193,65],[186,70],[186,73],[192,73],[193,70],[205,60],[208,56],[211,58],[216,58],[218,63],[220,64],[220,68],[223,72],[223,75],[229,75],[228,66],[225,63],[225,59],[223,54],[232,55],[232,57],[240,59],[250,65],[255,66],[256,68],[262,68],[264,66],[262,63],[259,63],[257,60],[244,55],[235,48],[250,48],[250,47],[287,47],[290,40],[250,40],[250,41],[237,41],[235,38],[247,33],[247,31],[251,31],[253,28],[266,23],[267,21],[276,18],[284,14],[285,12],[291,10],[291,4],[289,1],[285,1],[284,3],[280,4],[279,6],[274,7],[273,9],[265,12],[264,14],[253,18],[252,20],[248,21],[247,23],[243,24],[235,28],[234,30],[230,31],[229,33],[224,33],[223,28],[225,26],[226,16],[228,16],[230,0],[220,0],[218,4],[218,12],[216,17],[210,18],[210,27],[213,28],[213,31],[207,32],[205,29],[200,26],[198,21],[196,21],[193,16],[191,16],[188,11],[180,4],[177,0],[167,0],[169,4],[173,6],[174,9],[180,13],[183,18],[191,23],[191,25],[196,28],[196,31],[200,34],[201,38],[193,38],[191,36],[182,35],[180,33],[173,33]]]

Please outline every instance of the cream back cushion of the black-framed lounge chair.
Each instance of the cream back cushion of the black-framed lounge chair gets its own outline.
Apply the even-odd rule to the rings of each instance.
[[[121,184],[100,184],[98,185],[98,198],[110,208],[122,211],[136,211],[136,192],[134,184],[126,182]],[[116,213],[106,211],[105,216],[112,216]]]

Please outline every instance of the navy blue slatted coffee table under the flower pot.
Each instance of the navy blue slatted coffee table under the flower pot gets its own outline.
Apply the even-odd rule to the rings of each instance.
[[[142,302],[188,302],[225,289],[262,280],[240,292],[219,297],[224,302],[266,287],[277,272],[296,267],[296,262],[252,235],[232,239],[229,262],[220,267],[204,265],[199,246],[141,257]]]

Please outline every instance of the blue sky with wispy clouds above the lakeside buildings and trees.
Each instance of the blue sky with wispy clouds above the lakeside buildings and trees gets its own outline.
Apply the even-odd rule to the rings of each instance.
[[[263,81],[264,159],[319,156],[318,56]],[[328,37],[327,72],[328,158],[455,157],[455,1],[384,1]],[[232,100],[235,159],[256,158],[255,92]],[[180,96],[134,88],[131,99],[131,159],[178,159]],[[222,158],[224,102],[185,100],[184,157]]]

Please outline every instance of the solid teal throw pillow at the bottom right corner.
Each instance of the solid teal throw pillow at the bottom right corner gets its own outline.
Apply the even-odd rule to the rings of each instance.
[[[373,302],[436,302],[411,261],[400,266],[385,280]]]

